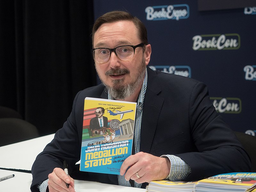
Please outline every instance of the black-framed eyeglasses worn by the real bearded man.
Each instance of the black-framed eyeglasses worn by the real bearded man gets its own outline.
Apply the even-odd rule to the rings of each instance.
[[[118,59],[122,61],[132,60],[135,54],[135,49],[137,47],[143,47],[144,43],[138,45],[122,45],[114,49],[110,48],[96,48],[92,49],[93,59],[98,63],[106,63],[109,61],[111,53],[115,52]]]

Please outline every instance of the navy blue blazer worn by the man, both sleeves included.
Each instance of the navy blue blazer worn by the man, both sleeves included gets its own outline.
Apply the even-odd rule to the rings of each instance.
[[[219,173],[249,172],[251,163],[242,145],[215,111],[205,84],[191,78],[148,70],[140,151],[155,156],[176,155],[191,167],[186,180],[199,180]],[[80,160],[84,98],[107,99],[105,87],[77,93],[68,120],[40,153],[32,167],[31,189],[48,178],[66,159],[69,169]],[[111,174],[76,172],[74,178],[118,185]],[[145,188],[147,183],[142,185]]]

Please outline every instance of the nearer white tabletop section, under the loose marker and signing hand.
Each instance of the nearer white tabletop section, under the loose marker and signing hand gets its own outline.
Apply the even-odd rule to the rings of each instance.
[[[13,178],[0,181],[0,191],[29,192],[32,181],[30,173],[14,172],[0,169],[0,177],[14,174]],[[145,192],[146,189],[109,185],[93,181],[75,180],[76,192]]]

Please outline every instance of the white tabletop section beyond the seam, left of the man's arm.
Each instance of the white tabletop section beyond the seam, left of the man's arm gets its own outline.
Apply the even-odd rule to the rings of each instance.
[[[0,168],[31,171],[36,156],[52,141],[54,134],[0,147]]]

